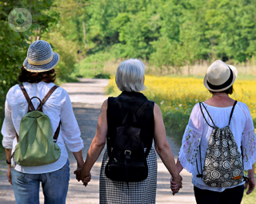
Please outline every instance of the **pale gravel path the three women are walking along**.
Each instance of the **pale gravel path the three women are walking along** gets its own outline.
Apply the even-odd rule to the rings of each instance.
[[[74,114],[78,120],[78,125],[82,132],[84,141],[83,156],[86,158],[86,153],[89,150],[90,143],[94,138],[98,114],[102,102],[107,96],[104,94],[104,88],[109,80],[82,79],[79,83],[62,84],[70,95],[73,104]],[[178,157],[179,147],[174,141],[168,138],[170,147],[174,153],[175,159]],[[76,162],[72,153],[70,153],[70,186],[67,194],[66,203],[98,203],[98,188],[99,188],[99,171],[101,167],[102,155],[95,163],[91,175],[92,180],[85,188],[82,182],[78,183],[75,180],[73,171],[76,168]],[[6,179],[6,164],[5,161],[0,161],[0,203],[10,204],[14,202],[14,192],[12,186]],[[170,191],[170,174],[166,167],[158,157],[158,190],[156,203],[195,203],[193,185],[191,183],[191,175],[186,171],[182,171],[183,189],[175,196],[171,195]],[[42,190],[40,192],[40,203],[43,203]]]

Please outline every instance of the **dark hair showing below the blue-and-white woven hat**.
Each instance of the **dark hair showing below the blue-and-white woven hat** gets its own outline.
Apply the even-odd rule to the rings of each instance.
[[[26,71],[24,66],[22,66],[21,72],[18,75],[18,81],[23,82],[29,82],[29,83],[38,83],[40,81],[44,81],[46,83],[50,83],[56,80],[56,73],[54,69],[51,69],[50,71],[46,71],[43,73],[30,73],[29,71]]]

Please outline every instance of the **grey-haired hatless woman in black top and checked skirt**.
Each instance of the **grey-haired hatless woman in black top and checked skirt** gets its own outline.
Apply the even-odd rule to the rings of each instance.
[[[107,140],[100,173],[100,203],[155,203],[157,158],[154,147],[178,187],[182,186],[166,140],[161,110],[141,93],[145,88],[144,73],[142,61],[137,59],[123,61],[118,66],[115,80],[122,93],[109,97],[102,104],[86,162],[82,170],[75,171],[77,179],[83,180],[86,186],[88,180],[84,178],[90,175]],[[137,163],[141,156],[145,163]]]

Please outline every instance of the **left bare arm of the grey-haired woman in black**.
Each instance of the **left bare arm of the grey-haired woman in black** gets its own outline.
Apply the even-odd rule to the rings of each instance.
[[[106,143],[106,133],[107,133],[107,119],[106,119],[106,109],[107,109],[107,100],[102,104],[101,112],[98,116],[98,124],[96,129],[96,135],[92,143],[90,144],[90,149],[88,151],[86,162],[82,167],[82,171],[77,171],[77,178],[84,179],[90,175],[90,170],[94,166],[94,163],[97,161],[98,156],[101,154],[102,149]],[[81,175],[79,175],[81,174]]]

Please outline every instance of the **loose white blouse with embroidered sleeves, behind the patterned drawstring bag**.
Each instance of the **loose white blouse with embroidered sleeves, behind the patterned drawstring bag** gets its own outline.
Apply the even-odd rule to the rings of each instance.
[[[218,108],[210,105],[206,106],[207,111],[210,113],[211,118],[214,120],[214,124],[218,128],[224,128],[229,124],[231,107]],[[214,126],[210,121],[206,110],[202,107],[206,120],[211,126]],[[198,175],[196,167],[196,159],[198,159],[198,170],[201,173],[199,145],[201,147],[201,159],[202,167],[206,158],[206,150],[210,139],[210,134],[213,128],[210,128],[202,116],[199,104],[195,104],[191,115],[189,124],[186,126],[185,133],[182,139],[182,147],[179,152],[178,159],[180,160],[182,167],[192,173],[192,182],[194,186],[205,190],[214,190],[222,192],[226,188],[223,187],[211,187],[202,182],[201,178],[197,178]],[[243,149],[243,162],[245,170],[251,169],[252,165],[256,161],[256,136],[254,131],[254,123],[250,116],[249,108],[246,104],[238,102],[234,108],[234,114],[230,121],[230,130],[234,135],[236,143],[238,143],[238,150],[241,152],[240,146]],[[242,185],[240,183],[238,185]],[[227,188],[232,188],[230,186]]]

